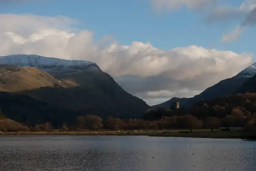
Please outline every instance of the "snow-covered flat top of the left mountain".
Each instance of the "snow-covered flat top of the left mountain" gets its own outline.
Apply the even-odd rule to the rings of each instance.
[[[85,60],[64,60],[47,58],[39,55],[7,55],[0,56],[0,64],[36,67],[44,71],[54,70],[100,70],[96,63]]]

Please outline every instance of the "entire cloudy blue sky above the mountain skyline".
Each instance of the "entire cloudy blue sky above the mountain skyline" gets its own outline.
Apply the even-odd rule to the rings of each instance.
[[[149,105],[255,61],[256,0],[0,0],[0,55],[90,60]]]

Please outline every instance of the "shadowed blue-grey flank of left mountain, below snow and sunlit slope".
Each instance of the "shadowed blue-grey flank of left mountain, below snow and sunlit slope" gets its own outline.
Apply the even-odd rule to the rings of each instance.
[[[125,92],[107,73],[84,70],[52,74],[59,79],[70,79],[79,86],[47,87],[20,93],[82,115],[92,114],[102,118],[137,118],[149,108],[143,100]]]

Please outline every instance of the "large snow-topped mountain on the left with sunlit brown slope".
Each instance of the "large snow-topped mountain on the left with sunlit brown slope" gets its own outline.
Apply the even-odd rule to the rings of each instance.
[[[37,112],[39,115],[42,112],[38,112],[37,108],[46,106],[44,117],[37,117],[41,118],[40,121],[52,121],[56,124],[86,114],[97,115],[103,119],[108,116],[137,118],[150,108],[140,98],[125,92],[110,75],[92,62],[46,58],[38,55],[9,55],[0,57],[0,64],[16,66],[11,70],[6,66],[0,66],[0,71],[3,70],[3,73],[10,75],[7,76],[10,81],[5,82],[5,85],[0,84],[2,88],[0,90],[12,92],[2,97],[3,103],[0,104],[0,108],[3,108],[6,116],[13,116],[9,118],[15,121],[21,122],[19,119],[23,118],[21,115],[25,115],[24,111],[31,113],[28,110],[31,105],[35,106],[33,113]],[[12,87],[10,84],[20,85],[23,88],[17,88],[20,86],[10,88]],[[12,95],[13,93],[15,94]],[[14,109],[3,107],[4,97],[12,97],[13,101],[16,101],[15,98],[23,101],[24,98],[24,106],[21,109],[23,111],[12,111]],[[20,101],[15,103],[17,108],[21,106]],[[61,114],[56,110],[66,114],[59,118]],[[24,118],[30,123],[39,122],[32,113],[25,116]],[[55,117],[59,118],[59,121]]]

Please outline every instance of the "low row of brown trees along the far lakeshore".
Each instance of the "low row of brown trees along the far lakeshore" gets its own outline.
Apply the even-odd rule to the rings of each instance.
[[[97,131],[99,129],[108,130],[161,130],[161,129],[187,129],[192,132],[193,129],[207,128],[213,131],[219,127],[243,127],[248,131],[256,131],[256,115],[244,116],[237,108],[233,109],[230,115],[224,118],[207,116],[203,121],[192,115],[184,116],[162,116],[158,120],[148,121],[144,119],[120,119],[109,117],[104,122],[99,116],[86,115],[79,116],[76,123],[68,126],[63,123],[63,131],[81,131],[89,129]],[[49,122],[37,124],[35,126],[23,126],[22,124],[8,120],[0,120],[1,131],[50,131],[52,124]]]

